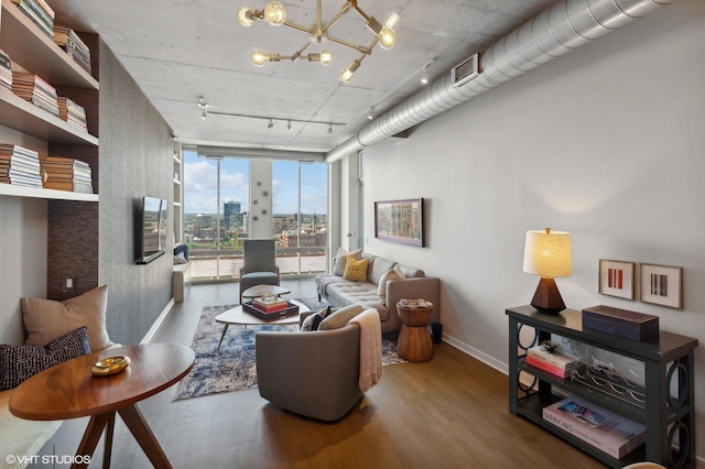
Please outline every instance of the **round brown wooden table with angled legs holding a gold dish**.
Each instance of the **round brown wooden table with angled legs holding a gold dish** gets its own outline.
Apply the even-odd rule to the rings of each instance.
[[[93,364],[108,357],[130,357],[130,366],[109,377],[95,377]],[[30,421],[63,421],[90,416],[77,456],[93,456],[106,430],[102,467],[110,467],[115,414],[120,414],[155,468],[171,468],[166,455],[137,403],[158,394],[188,374],[194,351],[174,343],[142,343],[101,350],[65,361],[35,374],[10,396],[10,412]],[[80,462],[84,458],[77,458]],[[74,463],[72,467],[87,467]]]

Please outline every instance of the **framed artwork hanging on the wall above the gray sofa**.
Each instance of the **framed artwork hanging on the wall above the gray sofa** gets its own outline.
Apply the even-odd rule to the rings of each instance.
[[[375,203],[375,238],[424,246],[423,198]]]

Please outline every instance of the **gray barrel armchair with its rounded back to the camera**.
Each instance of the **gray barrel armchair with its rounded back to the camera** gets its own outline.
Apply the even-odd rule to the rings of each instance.
[[[261,331],[254,336],[260,395],[319,421],[345,416],[362,397],[360,327],[311,332]]]

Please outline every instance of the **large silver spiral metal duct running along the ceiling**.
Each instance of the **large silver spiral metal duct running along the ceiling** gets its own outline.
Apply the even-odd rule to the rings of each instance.
[[[553,61],[674,0],[564,0],[492,44],[479,57],[481,74],[463,85],[452,75],[424,87],[357,135],[326,153],[334,162],[411,129],[475,96]]]

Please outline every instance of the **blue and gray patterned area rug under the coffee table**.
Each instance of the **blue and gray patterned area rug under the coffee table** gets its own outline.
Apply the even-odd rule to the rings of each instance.
[[[327,305],[318,298],[299,298],[312,310]],[[254,335],[260,330],[296,330],[297,326],[239,326],[228,328],[220,352],[216,349],[223,325],[215,317],[237,305],[206,306],[203,308],[191,348],[196,352],[196,362],[191,373],[176,389],[174,401],[200,397],[223,392],[242,391],[257,386],[254,366]],[[397,334],[382,335],[382,364],[402,363],[397,355]]]

